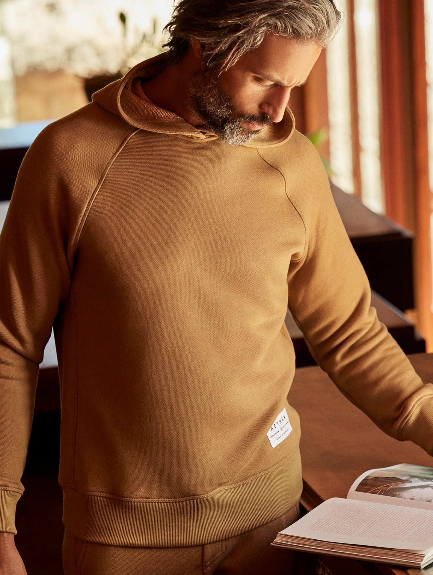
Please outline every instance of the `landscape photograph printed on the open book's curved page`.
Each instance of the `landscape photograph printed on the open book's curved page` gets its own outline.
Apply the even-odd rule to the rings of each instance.
[[[407,463],[374,469],[353,487],[357,493],[433,503],[433,469]]]

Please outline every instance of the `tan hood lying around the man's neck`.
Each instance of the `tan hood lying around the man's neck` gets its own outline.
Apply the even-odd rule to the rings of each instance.
[[[158,54],[134,66],[123,78],[95,92],[92,100],[128,122],[147,130],[188,140],[209,141],[218,136],[204,128],[195,128],[173,112],[158,108],[146,97],[141,83],[160,74],[165,68],[164,54]],[[253,140],[242,144],[249,148],[263,148],[284,144],[295,130],[295,118],[289,108],[283,120],[261,129]]]

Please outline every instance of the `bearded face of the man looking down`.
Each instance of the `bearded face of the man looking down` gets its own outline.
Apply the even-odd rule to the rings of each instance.
[[[227,144],[241,145],[283,119],[292,88],[306,81],[320,51],[317,44],[269,34],[229,70],[197,72],[191,111]]]

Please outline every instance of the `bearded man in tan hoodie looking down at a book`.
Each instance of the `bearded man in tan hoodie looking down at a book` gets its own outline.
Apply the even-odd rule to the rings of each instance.
[[[370,308],[287,109],[338,22],[331,0],[181,0],[167,55],[28,152],[0,237],[3,572],[25,573],[14,508],[53,324],[66,575],[293,573],[270,547],[301,492],[287,305],[343,393],[432,453],[433,388]]]

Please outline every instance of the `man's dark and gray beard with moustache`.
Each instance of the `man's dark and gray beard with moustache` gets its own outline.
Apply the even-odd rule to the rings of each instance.
[[[235,120],[236,110],[230,97],[218,81],[218,72],[198,72],[190,81],[190,112],[198,114],[204,126],[229,145],[242,145],[253,139],[260,130],[242,128],[242,121],[272,124],[269,116],[262,112],[258,116],[241,114]]]

